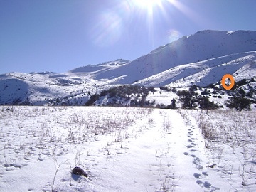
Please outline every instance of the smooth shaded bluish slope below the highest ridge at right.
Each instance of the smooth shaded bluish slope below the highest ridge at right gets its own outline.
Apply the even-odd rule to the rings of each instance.
[[[120,84],[131,84],[178,65],[255,50],[256,31],[199,31],[157,48],[127,65],[97,73],[95,78],[122,77],[118,81]]]

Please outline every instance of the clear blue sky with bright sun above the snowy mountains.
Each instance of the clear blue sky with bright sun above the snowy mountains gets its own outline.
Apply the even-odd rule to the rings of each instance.
[[[256,30],[255,0],[0,0],[0,73],[134,60],[200,30]]]

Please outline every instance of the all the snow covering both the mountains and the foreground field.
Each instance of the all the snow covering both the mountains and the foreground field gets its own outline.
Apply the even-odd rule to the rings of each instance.
[[[0,75],[0,191],[256,191],[253,104],[250,112],[224,106],[208,114],[46,106],[84,105],[119,85],[178,91],[225,73],[255,78],[255,55],[256,31],[198,31],[133,61]],[[209,97],[220,105],[228,99],[222,90]],[[170,105],[173,98],[180,107],[174,92],[160,88],[146,100]],[[14,103],[41,106],[3,106]],[[89,176],[71,174],[75,166]]]

